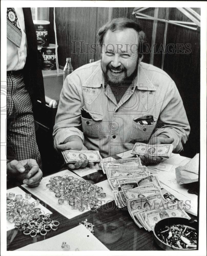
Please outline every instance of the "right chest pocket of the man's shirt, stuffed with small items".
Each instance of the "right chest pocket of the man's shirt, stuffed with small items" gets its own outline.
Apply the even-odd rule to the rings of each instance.
[[[129,142],[132,142],[132,143],[136,143],[136,142],[148,143],[148,141],[149,141],[149,139],[152,135],[152,132],[154,131],[154,128],[156,126],[157,117],[153,116],[154,123],[151,124],[151,125],[137,123],[135,121],[137,118],[138,118],[138,116],[135,116],[135,117],[132,118],[132,127],[131,127]]]

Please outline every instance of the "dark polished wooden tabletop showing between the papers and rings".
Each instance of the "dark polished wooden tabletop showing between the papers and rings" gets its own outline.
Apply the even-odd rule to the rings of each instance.
[[[82,178],[91,180],[94,184],[107,179],[106,174],[103,174],[102,171]],[[21,187],[21,189],[28,193],[25,188]],[[32,196],[34,199],[38,199],[34,195]],[[17,229],[9,230],[7,231],[7,250],[16,250],[28,244],[56,236],[76,227],[79,225],[79,222],[85,219],[94,225],[94,236],[111,251],[162,250],[153,241],[153,232],[148,232],[144,228],[140,229],[132,220],[128,210],[119,209],[115,205],[115,201],[101,206],[97,212],[83,212],[83,214],[72,219],[64,217],[42,200],[40,200],[40,203],[53,212],[51,215],[53,220],[59,221],[60,225],[57,231],[48,232],[46,237],[37,234],[36,237],[31,238],[30,236],[25,236],[22,231]],[[99,249],[97,248],[97,250]]]

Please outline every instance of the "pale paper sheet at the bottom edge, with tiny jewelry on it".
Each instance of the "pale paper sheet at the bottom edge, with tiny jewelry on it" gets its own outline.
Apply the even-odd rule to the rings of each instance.
[[[61,248],[66,242],[70,249]],[[109,251],[86,227],[82,224],[57,236],[40,242],[31,243],[16,251]],[[60,254],[59,254],[60,255]],[[68,254],[69,255],[69,254]]]

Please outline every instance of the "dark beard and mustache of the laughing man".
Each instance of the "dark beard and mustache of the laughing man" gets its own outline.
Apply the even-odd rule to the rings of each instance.
[[[111,63],[109,63],[106,66],[106,72],[103,71],[102,64],[101,64],[101,69],[104,74],[105,82],[107,82],[109,84],[109,86],[111,86],[111,84],[120,86],[121,84],[128,84],[128,82],[133,81],[133,79],[137,75],[138,65],[139,65],[139,59],[137,58],[136,67],[130,76],[127,76],[127,69],[125,67],[120,66],[120,67],[115,68],[111,65]],[[120,77],[112,77],[113,75],[111,74],[110,69],[115,70],[115,71],[122,71],[121,76]]]

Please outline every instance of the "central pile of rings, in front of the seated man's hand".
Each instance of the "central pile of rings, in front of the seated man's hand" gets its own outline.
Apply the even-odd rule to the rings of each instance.
[[[102,187],[73,176],[53,176],[49,182],[46,187],[55,193],[58,204],[61,205],[67,201],[73,209],[79,211],[84,211],[90,207],[91,211],[96,212],[100,209],[101,199],[106,197],[106,193],[102,193]]]

